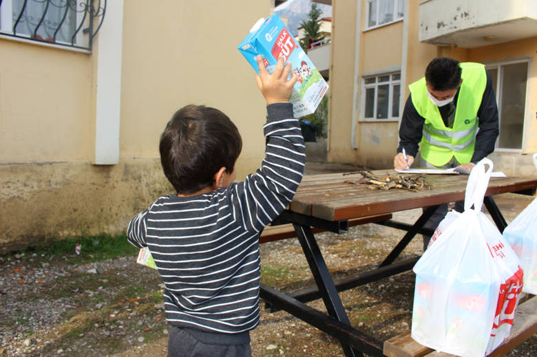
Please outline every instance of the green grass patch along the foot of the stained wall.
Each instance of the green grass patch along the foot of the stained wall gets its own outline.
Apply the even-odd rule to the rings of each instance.
[[[76,244],[81,244],[80,254],[75,252]],[[103,261],[118,257],[132,256],[138,253],[138,248],[127,241],[127,235],[84,235],[67,237],[50,241],[47,246],[30,247],[19,252],[11,252],[6,259],[13,260],[15,255],[20,259],[30,260],[31,257],[40,257],[42,260],[63,259],[63,263],[88,263]]]

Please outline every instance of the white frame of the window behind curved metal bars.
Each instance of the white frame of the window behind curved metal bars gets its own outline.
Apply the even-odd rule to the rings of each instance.
[[[83,0],[76,0],[76,8],[80,8],[81,4],[83,3]],[[36,41],[32,39],[30,36],[27,36],[25,34],[17,34],[17,36],[13,33],[13,19],[12,19],[12,12],[13,12],[13,1],[12,0],[3,0],[2,6],[0,7],[0,37],[3,39],[10,39],[13,41],[19,41],[19,42],[25,42],[25,43],[32,43],[35,45],[42,45],[45,47],[56,47],[61,49],[66,49],[64,47],[65,45],[69,46],[70,43],[63,43],[63,42],[56,42],[56,43],[47,43],[43,41]],[[80,24],[82,21],[84,14],[83,12],[76,12],[76,24]],[[87,19],[85,20],[87,21]],[[83,25],[84,27],[84,25]],[[75,45],[83,46],[85,43],[85,36],[89,36],[89,34],[85,34],[82,31],[82,28],[75,36]],[[77,47],[68,47],[67,48],[70,51],[76,51],[76,52],[87,52],[89,53],[89,50],[77,48]]]

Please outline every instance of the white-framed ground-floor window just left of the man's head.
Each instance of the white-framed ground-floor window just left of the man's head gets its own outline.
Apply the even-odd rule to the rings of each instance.
[[[397,120],[401,73],[364,78],[364,120]]]

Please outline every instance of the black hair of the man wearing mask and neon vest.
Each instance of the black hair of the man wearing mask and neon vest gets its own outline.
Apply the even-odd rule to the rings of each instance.
[[[448,57],[434,58],[425,69],[425,82],[435,91],[456,89],[461,83],[459,61]]]

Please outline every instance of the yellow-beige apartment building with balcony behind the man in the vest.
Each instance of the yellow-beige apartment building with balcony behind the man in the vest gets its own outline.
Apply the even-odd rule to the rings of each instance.
[[[333,2],[328,160],[392,167],[408,85],[437,56],[486,65],[500,136],[489,155],[507,175],[536,175],[537,2]]]

